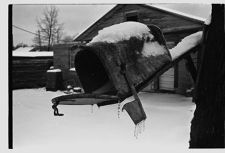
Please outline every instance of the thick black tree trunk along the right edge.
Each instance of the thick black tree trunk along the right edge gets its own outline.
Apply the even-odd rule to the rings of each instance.
[[[196,82],[196,110],[190,148],[224,148],[225,33],[224,5],[212,5],[212,20],[203,34]]]

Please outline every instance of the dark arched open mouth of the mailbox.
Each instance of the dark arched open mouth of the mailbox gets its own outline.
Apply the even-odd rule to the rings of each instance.
[[[86,93],[115,94],[105,67],[91,49],[83,49],[76,54],[75,68]]]

